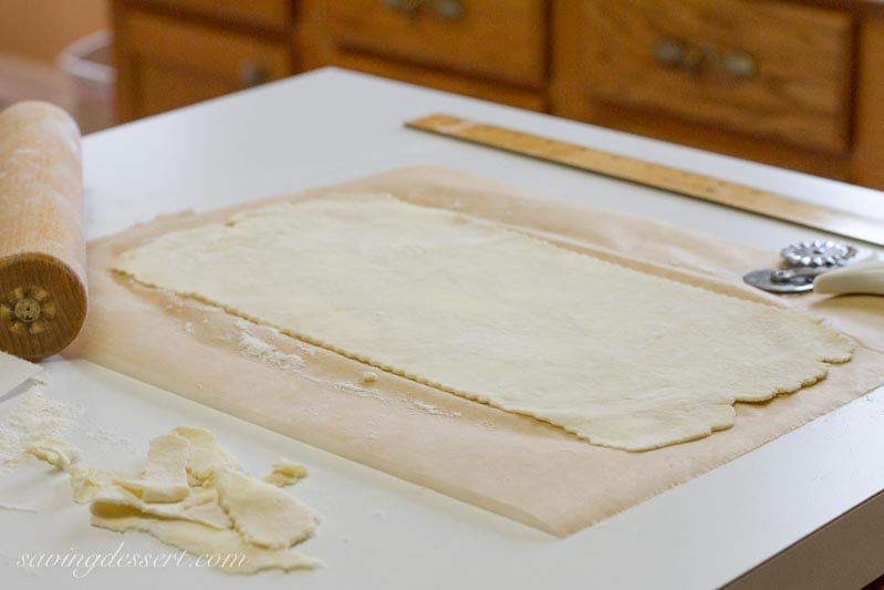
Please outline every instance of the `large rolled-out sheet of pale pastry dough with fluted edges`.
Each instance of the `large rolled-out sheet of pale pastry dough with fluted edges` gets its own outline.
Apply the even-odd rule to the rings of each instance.
[[[853,350],[797,311],[381,194],[281,203],[170,232],[115,269],[631,451],[727,428],[736,401],[794,392]]]

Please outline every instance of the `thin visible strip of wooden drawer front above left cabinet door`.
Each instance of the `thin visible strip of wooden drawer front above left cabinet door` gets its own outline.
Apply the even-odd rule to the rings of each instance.
[[[129,0],[143,3],[145,0]],[[291,21],[290,0],[149,0],[154,7],[220,19],[231,24],[250,24],[284,30]]]

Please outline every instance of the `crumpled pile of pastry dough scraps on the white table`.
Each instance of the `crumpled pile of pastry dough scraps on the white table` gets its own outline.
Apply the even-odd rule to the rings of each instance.
[[[278,485],[239,469],[215,435],[181,426],[150,442],[139,475],[81,466],[70,475],[74,499],[90,503],[96,527],[138,530],[196,556],[217,556],[208,565],[229,573],[316,567],[290,548],[313,534],[318,518],[278,487],[306,469],[275,462]]]

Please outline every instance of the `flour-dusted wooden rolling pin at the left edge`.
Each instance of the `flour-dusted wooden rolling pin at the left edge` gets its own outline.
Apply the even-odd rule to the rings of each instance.
[[[86,318],[80,130],[61,108],[0,113],[0,350],[60,352]]]

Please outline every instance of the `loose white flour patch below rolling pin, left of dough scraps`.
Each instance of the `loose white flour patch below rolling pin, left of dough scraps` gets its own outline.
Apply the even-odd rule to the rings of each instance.
[[[9,415],[0,422],[0,475],[13,470],[24,451],[45,438],[63,438],[83,415],[83,407],[43,395],[48,376],[31,379]]]

